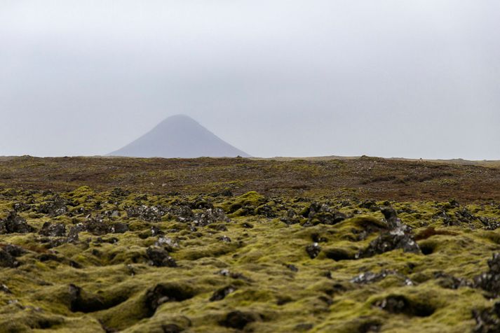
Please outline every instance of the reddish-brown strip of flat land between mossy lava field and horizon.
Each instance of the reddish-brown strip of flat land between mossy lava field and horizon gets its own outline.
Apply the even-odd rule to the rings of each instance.
[[[248,158],[8,157],[0,158],[3,189],[71,191],[80,186],[143,193],[199,195],[229,190],[267,197],[340,196],[377,200],[457,199],[500,202],[500,166],[360,157],[349,160]]]

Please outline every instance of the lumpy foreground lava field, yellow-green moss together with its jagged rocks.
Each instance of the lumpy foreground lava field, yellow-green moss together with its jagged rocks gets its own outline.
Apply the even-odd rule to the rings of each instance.
[[[500,206],[0,192],[4,332],[499,332]]]

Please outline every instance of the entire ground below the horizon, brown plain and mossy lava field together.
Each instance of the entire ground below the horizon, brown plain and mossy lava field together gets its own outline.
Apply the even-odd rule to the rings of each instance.
[[[500,169],[0,161],[0,332],[500,332]]]

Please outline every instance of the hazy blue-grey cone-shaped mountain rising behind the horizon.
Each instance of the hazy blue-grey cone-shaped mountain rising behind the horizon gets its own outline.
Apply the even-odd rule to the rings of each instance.
[[[250,157],[187,115],[173,115],[127,146],[110,153],[128,157]]]

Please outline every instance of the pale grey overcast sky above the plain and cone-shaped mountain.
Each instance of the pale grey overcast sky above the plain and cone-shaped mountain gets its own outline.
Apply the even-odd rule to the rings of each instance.
[[[0,155],[191,115],[254,156],[500,160],[498,0],[0,0]]]

